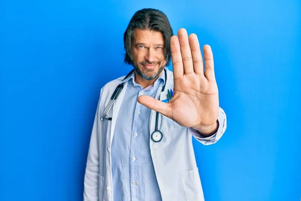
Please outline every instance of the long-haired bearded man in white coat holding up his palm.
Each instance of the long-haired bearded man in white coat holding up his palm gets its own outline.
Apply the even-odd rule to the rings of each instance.
[[[174,36],[164,13],[142,9],[124,47],[134,71],[101,89],[84,200],[204,200],[192,137],[209,145],[226,130],[210,46],[203,67],[195,34]]]

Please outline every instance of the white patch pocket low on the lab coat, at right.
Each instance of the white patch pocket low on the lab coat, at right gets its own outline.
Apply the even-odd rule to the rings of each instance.
[[[180,173],[187,201],[203,201],[203,188],[198,170]]]

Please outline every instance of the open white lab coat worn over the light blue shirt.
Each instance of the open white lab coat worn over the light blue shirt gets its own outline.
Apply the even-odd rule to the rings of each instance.
[[[100,92],[84,177],[85,201],[113,200],[112,174],[114,172],[111,171],[110,151],[116,119],[127,82],[124,83],[123,90],[107,115],[107,117],[112,117],[112,121],[101,121],[100,117],[102,117],[112,93],[123,78],[124,76],[108,82]],[[167,94],[167,89],[174,86],[173,72],[168,69],[166,81],[165,94]],[[160,97],[161,90],[162,87],[159,88],[156,98]],[[213,137],[196,139],[206,145],[217,142],[225,132],[227,124],[226,115],[221,108],[218,120],[220,125]],[[155,122],[156,111],[152,110],[149,121],[150,134],[155,130]],[[163,132],[163,139],[159,143],[149,140],[149,146],[163,201],[204,200],[191,131],[161,114],[158,128]]]

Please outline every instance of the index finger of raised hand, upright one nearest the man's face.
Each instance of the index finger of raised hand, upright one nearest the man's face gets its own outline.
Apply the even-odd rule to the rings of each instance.
[[[172,52],[174,79],[178,79],[183,76],[184,68],[183,68],[179,38],[177,36],[172,36],[171,38],[171,52]]]

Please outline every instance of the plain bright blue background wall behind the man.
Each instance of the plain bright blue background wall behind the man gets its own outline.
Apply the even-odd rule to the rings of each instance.
[[[145,7],[213,49],[228,129],[194,141],[206,201],[299,201],[299,0],[2,0],[0,200],[82,200],[100,88],[131,70],[123,32]]]

